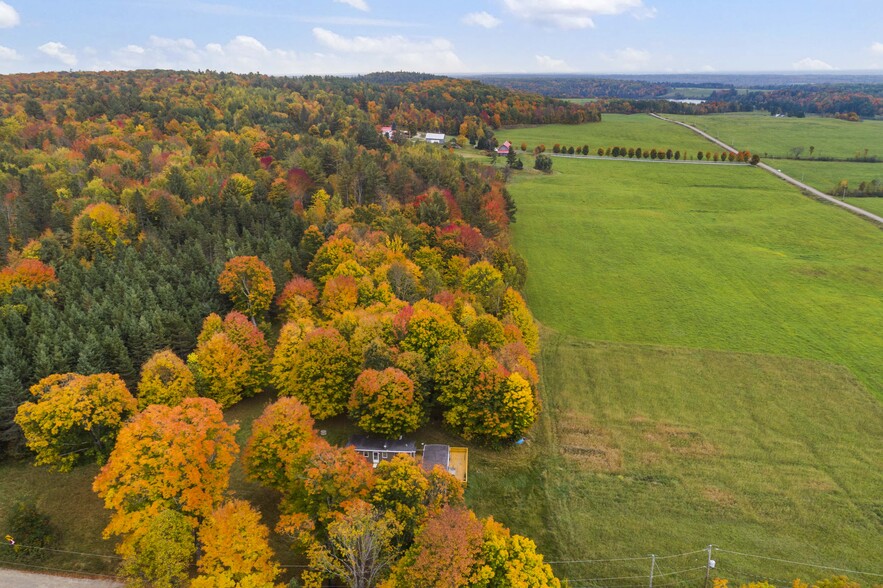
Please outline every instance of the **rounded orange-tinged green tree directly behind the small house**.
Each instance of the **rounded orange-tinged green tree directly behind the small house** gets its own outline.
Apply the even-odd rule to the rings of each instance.
[[[414,382],[396,368],[363,371],[353,385],[349,410],[360,428],[388,439],[416,431],[423,420]]]

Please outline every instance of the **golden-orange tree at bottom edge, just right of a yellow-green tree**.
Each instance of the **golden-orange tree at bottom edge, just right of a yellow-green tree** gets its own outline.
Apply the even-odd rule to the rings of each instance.
[[[191,588],[274,588],[282,571],[269,545],[270,531],[244,500],[227,502],[199,528],[199,575]]]

